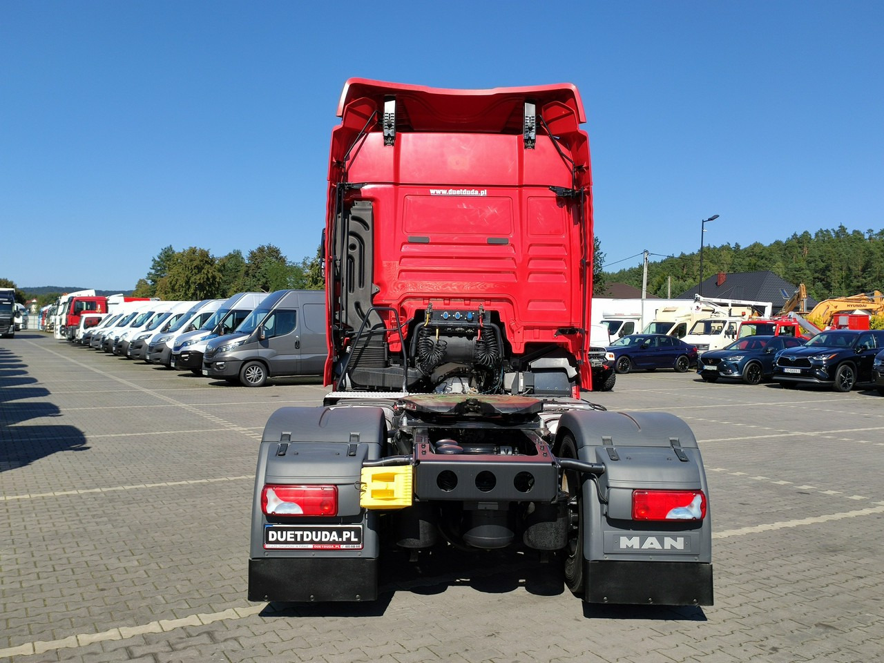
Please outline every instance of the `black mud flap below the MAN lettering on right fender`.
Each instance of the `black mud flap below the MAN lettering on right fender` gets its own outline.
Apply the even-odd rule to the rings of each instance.
[[[712,606],[713,565],[584,560],[583,600],[644,606]]]

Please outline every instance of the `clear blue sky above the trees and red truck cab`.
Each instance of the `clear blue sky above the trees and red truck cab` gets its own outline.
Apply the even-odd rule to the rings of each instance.
[[[351,77],[575,83],[611,270],[697,251],[713,214],[706,246],[880,230],[881,34],[880,0],[0,0],[0,278],[131,289],[168,245],[312,256]]]

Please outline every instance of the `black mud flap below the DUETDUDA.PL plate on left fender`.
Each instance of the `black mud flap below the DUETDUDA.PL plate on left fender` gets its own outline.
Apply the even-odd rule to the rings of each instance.
[[[271,557],[248,560],[250,601],[374,601],[377,559]]]

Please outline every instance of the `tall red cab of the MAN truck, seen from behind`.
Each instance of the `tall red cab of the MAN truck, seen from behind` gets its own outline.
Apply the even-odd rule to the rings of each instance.
[[[327,383],[589,389],[589,142],[572,86],[350,80],[332,133]]]

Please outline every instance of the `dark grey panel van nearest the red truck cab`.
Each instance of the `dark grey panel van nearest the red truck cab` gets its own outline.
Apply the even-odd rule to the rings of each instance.
[[[245,386],[263,386],[268,377],[322,375],[325,325],[322,290],[278,290],[234,333],[209,341],[202,375]]]

